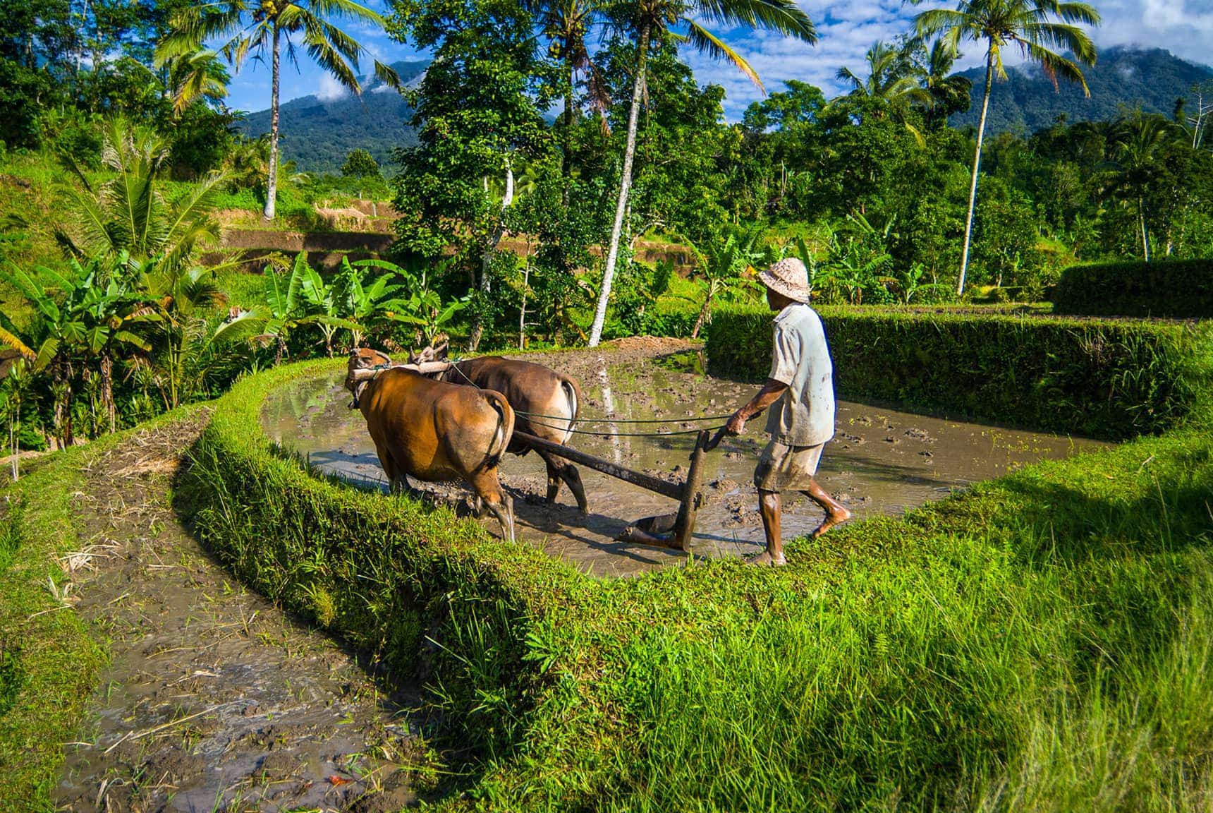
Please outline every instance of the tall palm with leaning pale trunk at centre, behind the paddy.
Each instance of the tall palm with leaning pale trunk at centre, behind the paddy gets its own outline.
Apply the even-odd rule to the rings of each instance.
[[[598,292],[598,307],[594,311],[593,326],[590,329],[590,346],[597,347],[602,340],[603,324],[606,322],[606,303],[610,300],[611,279],[615,277],[615,263],[619,261],[619,240],[623,231],[623,215],[627,212],[627,195],[632,187],[632,160],[636,157],[636,125],[640,113],[640,101],[644,97],[645,68],[649,59],[649,45],[654,38],[661,38],[674,25],[685,25],[685,34],[674,34],[674,39],[689,42],[699,51],[717,59],[731,62],[741,73],[748,76],[758,87],[762,83],[758,74],[740,53],[725,45],[696,22],[707,19],[727,25],[746,28],[769,28],[788,36],[796,36],[804,42],[816,42],[818,35],[796,0],[623,0],[619,16],[637,32],[636,76],[632,81],[632,103],[627,114],[627,141],[623,147],[623,167],[619,180],[619,198],[615,201],[615,222],[611,226],[610,245],[606,250],[606,266],[603,269],[603,284]]]

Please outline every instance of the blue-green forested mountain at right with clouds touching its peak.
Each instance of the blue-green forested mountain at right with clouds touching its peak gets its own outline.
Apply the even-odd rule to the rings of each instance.
[[[962,70],[973,81],[973,104],[967,113],[953,115],[955,126],[978,124],[985,68]],[[1122,109],[1140,107],[1146,113],[1171,115],[1175,100],[1190,96],[1192,85],[1213,79],[1213,68],[1185,62],[1162,49],[1115,46],[1100,51],[1092,68],[1083,69],[1090,98],[1082,87],[1066,81],[1053,83],[1035,66],[1007,70],[1007,80],[993,83],[986,133],[1010,131],[1032,133],[1054,123],[1058,115],[1075,121],[1115,119]]]

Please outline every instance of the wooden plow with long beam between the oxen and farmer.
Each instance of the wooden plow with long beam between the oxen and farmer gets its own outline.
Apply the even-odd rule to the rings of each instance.
[[[649,535],[648,539],[654,540],[649,542],[647,539],[636,538],[633,541],[639,541],[642,544],[664,544],[666,547],[674,547],[680,551],[690,551],[690,538],[695,531],[695,512],[699,510],[700,505],[704,502],[704,495],[700,494],[700,483],[704,477],[704,454],[711,451],[721,442],[724,436],[724,430],[721,428],[714,436],[711,434],[710,430],[701,430],[695,436],[695,445],[690,453],[690,467],[687,471],[687,479],[682,483],[664,481],[659,477],[653,477],[638,471],[632,471],[626,466],[620,466],[619,464],[613,464],[609,460],[603,460],[602,457],[596,457],[593,455],[586,454],[585,451],[579,451],[577,449],[570,449],[568,447],[562,447],[558,443],[552,443],[551,440],[545,440],[543,438],[537,438],[534,434],[526,432],[514,432],[514,437],[519,440],[525,442],[528,445],[535,449],[542,449],[548,454],[553,454],[558,457],[564,457],[575,464],[581,464],[594,471],[599,471],[604,474],[610,474],[611,477],[619,478],[625,483],[631,483],[632,485],[639,485],[649,491],[655,491],[662,496],[667,496],[671,500],[678,501],[678,512],[673,516],[672,528],[668,527],[668,522],[662,523],[666,517],[649,517],[648,521],[654,524],[660,524],[662,527],[653,528],[654,531],[670,530],[671,535],[668,540],[662,541],[657,535]],[[660,436],[657,436],[660,437]],[[639,521],[644,522],[644,521]],[[633,523],[634,524],[634,523]]]

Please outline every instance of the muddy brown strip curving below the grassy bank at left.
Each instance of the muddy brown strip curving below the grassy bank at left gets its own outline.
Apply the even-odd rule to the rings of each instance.
[[[142,432],[87,470],[87,546],[69,557],[76,612],[113,663],[61,809],[398,811],[414,801],[421,739],[403,709],[331,638],[246,592],[181,527],[178,455],[205,416]]]

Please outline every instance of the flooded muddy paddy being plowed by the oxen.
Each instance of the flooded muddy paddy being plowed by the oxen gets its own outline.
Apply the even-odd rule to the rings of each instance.
[[[585,422],[582,430],[615,434],[579,434],[582,451],[655,476],[685,476],[694,434],[676,434],[721,420],[695,420],[730,413],[745,403],[753,385],[677,371],[645,354],[552,354],[549,365],[569,371],[583,387],[583,419],[668,419],[654,425]],[[535,360],[535,357],[528,357]],[[605,363],[599,363],[599,358]],[[297,381],[273,393],[262,421],[267,433],[306,455],[323,471],[382,487],[383,478],[365,421],[348,409],[341,374]],[[753,470],[768,436],[765,416],[751,421],[746,434],[729,438],[707,455],[704,496],[693,552],[696,556],[742,556],[761,550]],[[668,433],[627,437],[631,432]],[[926,417],[910,413],[841,402],[837,434],[826,445],[819,482],[856,518],[895,514],[936,500],[957,488],[1004,474],[1043,459],[1065,457],[1101,445],[1055,434]],[[559,505],[547,506],[546,473],[535,455],[507,456],[502,483],[514,496],[519,536],[541,545],[576,567],[598,575],[622,575],[684,561],[677,551],[615,541],[630,523],[676,510],[666,498],[619,479],[581,468],[590,514],[581,516],[568,490]],[[459,485],[412,483],[435,499],[465,504]],[[821,521],[816,505],[785,495],[784,535],[811,531]],[[486,527],[496,533],[496,524]]]

